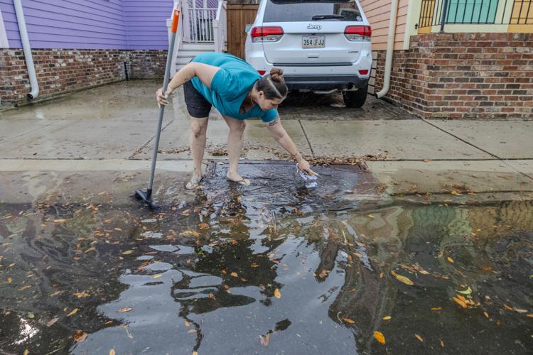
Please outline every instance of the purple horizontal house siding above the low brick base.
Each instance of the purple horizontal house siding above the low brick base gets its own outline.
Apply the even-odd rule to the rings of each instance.
[[[166,49],[172,0],[23,0],[32,48]],[[9,48],[22,48],[13,0],[0,0]]]

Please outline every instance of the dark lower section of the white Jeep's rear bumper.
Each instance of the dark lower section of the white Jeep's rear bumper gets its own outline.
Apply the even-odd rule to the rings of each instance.
[[[289,90],[348,90],[360,89],[368,77],[357,75],[284,75]]]

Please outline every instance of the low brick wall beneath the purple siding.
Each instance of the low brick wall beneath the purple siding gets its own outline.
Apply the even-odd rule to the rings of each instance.
[[[166,50],[32,50],[39,95],[60,94],[130,79],[163,77]],[[26,104],[31,91],[23,50],[0,50],[0,107]]]

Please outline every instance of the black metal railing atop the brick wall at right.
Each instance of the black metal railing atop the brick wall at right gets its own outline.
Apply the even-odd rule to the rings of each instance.
[[[417,28],[445,24],[533,24],[533,0],[422,0]]]

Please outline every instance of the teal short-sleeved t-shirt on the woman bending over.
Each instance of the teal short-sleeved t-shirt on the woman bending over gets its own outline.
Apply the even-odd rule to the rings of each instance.
[[[211,81],[211,88],[207,87],[198,77],[191,80],[193,87],[205,97],[221,114],[234,119],[249,119],[260,117],[264,122],[276,119],[278,111],[269,109],[264,111],[255,104],[252,109],[239,114],[242,102],[255,82],[261,76],[244,60],[226,53],[202,53],[192,60],[203,64],[220,67]]]

